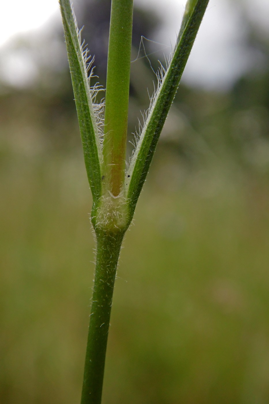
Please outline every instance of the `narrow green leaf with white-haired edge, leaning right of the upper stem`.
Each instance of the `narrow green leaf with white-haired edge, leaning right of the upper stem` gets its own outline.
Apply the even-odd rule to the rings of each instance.
[[[208,1],[189,0],[187,2],[170,64],[166,72],[163,68],[160,69],[158,76],[159,86],[156,94],[151,99],[147,119],[141,131],[135,153],[132,156],[130,167],[126,173],[126,196],[129,201],[130,219],[134,213],[160,133],[177,92],[179,81],[206,11]]]

